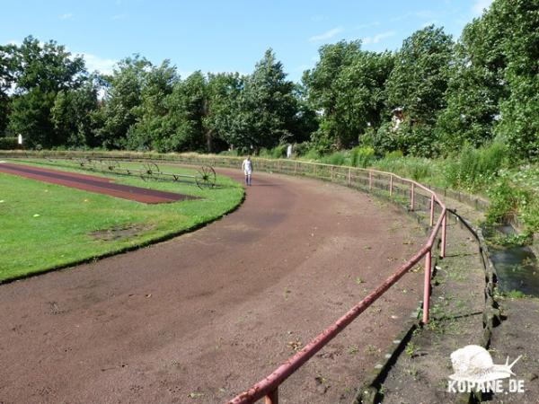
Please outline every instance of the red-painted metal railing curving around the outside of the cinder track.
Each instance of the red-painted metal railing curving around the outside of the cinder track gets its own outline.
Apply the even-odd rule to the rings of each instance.
[[[199,154],[140,154],[140,153],[87,153],[87,152],[0,152],[0,157],[93,157],[93,158],[111,158],[116,160],[152,160],[160,162],[180,162],[186,164],[211,164],[217,167],[235,167],[239,168],[243,158],[224,157],[224,156],[202,156]],[[440,257],[446,255],[446,205],[431,189],[425,187],[417,181],[402,178],[392,172],[376,171],[370,169],[361,169],[355,167],[336,166],[318,162],[301,162],[294,160],[268,160],[253,159],[255,170],[280,172],[291,175],[303,175],[322,180],[330,180],[348,187],[374,189],[387,192],[389,198],[396,198],[399,194],[405,196],[409,201],[409,207],[414,210],[418,204],[418,198],[427,199],[429,202],[429,225],[432,228],[429,239],[423,247],[416,252],[406,263],[399,267],[393,275],[388,277],[382,285],[376,287],[370,294],[346,312],[339,320],[324,329],[316,338],[305,345],[296,355],[290,357],[286,363],[281,364],[273,373],[260,382],[255,383],[249,390],[228,401],[228,404],[250,404],[257,400],[265,399],[266,404],[278,403],[278,387],[282,382],[295,373],[305,362],[313,357],[322,349],[332,338],[335,338],[342,329],[346,328],[350,322],[354,321],[359,314],[364,312],[367,307],[376,302],[376,299],[385,293],[394,285],[406,272],[413,268],[421,259],[425,259],[425,276],[423,285],[423,313],[422,322],[429,322],[429,300],[430,300],[430,278],[432,270],[432,250],[435,247],[437,235],[441,229]],[[437,216],[436,207],[440,207],[440,213]]]

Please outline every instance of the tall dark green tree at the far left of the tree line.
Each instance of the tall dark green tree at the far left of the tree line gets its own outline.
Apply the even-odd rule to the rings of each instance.
[[[84,83],[82,57],[72,57],[66,48],[49,41],[43,45],[31,36],[13,49],[15,83],[8,129],[21,134],[30,147],[65,145],[50,119],[57,93]]]

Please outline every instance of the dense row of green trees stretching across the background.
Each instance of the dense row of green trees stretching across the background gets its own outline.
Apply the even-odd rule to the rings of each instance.
[[[30,148],[253,152],[303,143],[319,153],[439,156],[494,138],[539,155],[539,0],[495,0],[459,40],[433,25],[390,52],[360,40],[319,49],[301,83],[269,49],[250,75],[178,75],[134,55],[111,75],[55,41],[0,46],[0,136]]]

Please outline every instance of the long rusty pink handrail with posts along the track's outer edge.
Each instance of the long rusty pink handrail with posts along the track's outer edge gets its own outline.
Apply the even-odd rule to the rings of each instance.
[[[0,152],[0,156],[2,155],[21,155],[23,153],[3,153]],[[102,156],[104,153],[89,153],[93,157]],[[26,154],[28,155],[28,154]],[[31,154],[33,156],[47,156],[47,155],[53,155],[53,156],[69,156],[70,152],[66,153],[47,153],[47,152],[41,152],[39,154]],[[71,153],[73,155],[73,153]],[[86,154],[78,154],[75,153],[75,155],[88,155]],[[126,159],[133,159],[135,158],[155,158],[157,157],[158,160],[172,160],[172,161],[179,161],[181,160],[181,155],[167,155],[167,154],[131,154],[131,153],[116,153],[116,154],[108,154],[108,158],[110,156],[114,156],[114,158],[126,158]],[[107,158],[105,157],[105,158]],[[163,158],[166,157],[166,158]],[[197,156],[199,158],[199,156]],[[223,159],[223,156],[212,156],[212,157],[204,157],[204,160],[208,161],[208,159],[213,159],[214,163],[217,159],[221,162],[228,160],[230,161],[237,161],[238,158],[234,157],[226,157]],[[183,160],[190,160],[190,156],[185,155]],[[296,355],[291,356],[287,362],[284,364],[281,364],[273,373],[262,379],[260,382],[255,383],[251,389],[247,391],[243,391],[241,394],[237,395],[233,400],[228,401],[227,404],[252,404],[257,400],[261,400],[262,398],[265,398],[266,404],[277,404],[278,403],[278,386],[287,380],[287,378],[294,372],[296,372],[297,369],[299,369],[305,362],[307,362],[311,357],[313,357],[320,349],[325,347],[325,345],[331,341],[332,338],[335,338],[342,329],[346,328],[351,321],[354,321],[359,314],[364,312],[372,303],[376,301],[378,297],[380,297],[382,294],[385,293],[392,285],[394,285],[406,272],[408,272],[414,265],[416,265],[418,262],[420,262],[423,257],[425,258],[425,277],[424,277],[424,286],[423,286],[423,317],[422,322],[424,324],[429,322],[429,300],[430,300],[430,277],[431,277],[431,266],[432,266],[432,249],[434,248],[435,241],[437,239],[437,234],[440,231],[442,231],[441,234],[441,242],[440,242],[440,257],[444,258],[446,256],[446,224],[447,224],[447,209],[446,205],[443,203],[443,201],[437,196],[437,193],[434,192],[432,189],[429,189],[428,187],[424,186],[423,184],[420,184],[420,182],[417,182],[415,180],[410,180],[403,178],[397,174],[394,174],[393,172],[388,171],[377,171],[377,170],[371,170],[371,169],[361,169],[356,167],[346,167],[346,166],[335,166],[331,164],[324,164],[324,163],[317,163],[317,162],[299,162],[299,161],[291,161],[291,160],[267,160],[267,159],[256,159],[256,161],[259,162],[270,162],[271,164],[274,164],[277,167],[277,170],[275,168],[273,171],[282,171],[282,165],[283,163],[294,163],[294,173],[296,174],[296,169],[298,164],[305,164],[308,166],[314,167],[314,175],[316,176],[316,167],[330,167],[331,168],[331,180],[333,180],[334,176],[334,170],[337,169],[348,169],[348,185],[350,186],[351,183],[351,172],[352,169],[354,171],[361,171],[361,172],[367,172],[368,173],[368,184],[369,189],[372,189],[373,187],[373,173],[381,174],[384,176],[389,176],[389,195],[390,198],[393,196],[393,180],[401,180],[402,184],[408,183],[410,184],[410,200],[411,200],[411,210],[414,209],[414,200],[415,200],[415,193],[416,188],[422,189],[426,191],[430,195],[430,226],[432,227],[432,231],[429,235],[429,239],[427,240],[427,243],[421,247],[421,249],[416,252],[411,259],[409,259],[406,263],[402,264],[401,267],[399,267],[393,275],[388,277],[382,285],[379,285],[376,287],[375,290],[373,290],[370,294],[367,294],[367,296],[361,300],[358,304],[353,306],[349,312],[346,312],[342,317],[340,317],[339,320],[335,321],[333,324],[331,324],[330,327],[327,329],[324,329],[323,332],[321,332],[316,338],[314,338],[310,343],[305,345],[303,349],[301,349],[299,352],[296,353]],[[235,164],[234,164],[235,165]],[[287,172],[287,171],[283,171]],[[342,174],[341,174],[342,175]],[[435,213],[435,202],[438,206],[441,207],[440,215],[437,217],[437,222],[434,224],[434,213]]]

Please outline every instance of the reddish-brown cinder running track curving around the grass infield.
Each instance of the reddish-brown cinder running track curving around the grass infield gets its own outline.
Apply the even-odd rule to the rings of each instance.
[[[0,403],[225,402],[424,241],[357,191],[253,183],[242,207],[195,233],[0,285]],[[403,277],[285,382],[280,402],[349,402],[416,307],[420,278]]]

